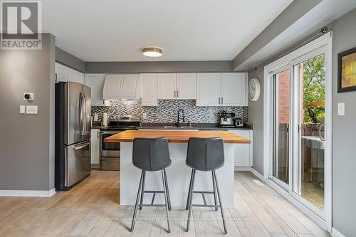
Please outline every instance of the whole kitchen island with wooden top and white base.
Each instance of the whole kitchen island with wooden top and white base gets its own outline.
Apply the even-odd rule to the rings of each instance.
[[[226,208],[234,206],[234,144],[248,144],[249,139],[227,131],[164,131],[127,130],[111,137],[105,142],[120,142],[120,204],[135,205],[141,170],[132,164],[132,142],[136,137],[167,137],[169,156],[172,164],[166,169],[169,194],[172,206],[184,207],[187,201],[189,180],[192,169],[187,167],[187,142],[190,137],[221,137],[224,140],[225,164],[216,170],[221,198]],[[212,191],[211,172],[197,171],[194,190]],[[145,190],[163,190],[160,172],[147,172]],[[214,203],[214,196],[205,194],[208,204]],[[150,204],[152,194],[145,194],[144,203]],[[164,196],[157,194],[155,204],[163,204]],[[204,204],[201,194],[194,194],[194,204]]]

